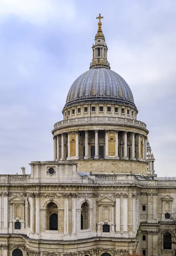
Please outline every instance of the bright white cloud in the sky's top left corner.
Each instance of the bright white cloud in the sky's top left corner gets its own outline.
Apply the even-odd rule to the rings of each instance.
[[[22,21],[43,25],[53,19],[72,20],[75,14],[72,0],[0,0],[1,21],[15,16]]]

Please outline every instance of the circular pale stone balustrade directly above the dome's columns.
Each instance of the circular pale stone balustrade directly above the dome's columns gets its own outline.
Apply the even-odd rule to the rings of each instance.
[[[109,117],[109,116],[95,116],[95,117],[79,117],[79,118],[72,118],[63,120],[60,122],[55,123],[54,129],[61,128],[61,127],[67,127],[72,125],[80,125],[80,124],[114,124],[114,125],[129,125],[129,126],[135,126],[146,129],[147,125],[144,122],[130,119],[130,118],[124,118],[124,117]]]

